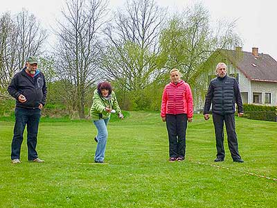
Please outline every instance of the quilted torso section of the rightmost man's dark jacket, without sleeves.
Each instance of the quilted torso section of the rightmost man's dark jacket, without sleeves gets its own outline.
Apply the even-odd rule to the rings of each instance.
[[[224,76],[211,80],[213,87],[212,111],[215,114],[232,114],[235,112],[235,78]]]

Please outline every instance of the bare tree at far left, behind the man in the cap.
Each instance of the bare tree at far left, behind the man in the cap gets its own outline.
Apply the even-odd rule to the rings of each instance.
[[[29,55],[42,54],[46,40],[37,18],[27,10],[13,18],[9,12],[0,17],[0,89],[4,91],[12,76],[24,67]]]

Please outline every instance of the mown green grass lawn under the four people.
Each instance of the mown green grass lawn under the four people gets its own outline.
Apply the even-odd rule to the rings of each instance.
[[[215,163],[212,119],[188,124],[186,160],[168,162],[166,123],[130,112],[109,123],[106,164],[94,164],[90,122],[41,122],[44,164],[10,163],[13,122],[0,121],[0,207],[277,207],[277,123],[236,118],[243,164]],[[251,175],[256,174],[256,175]],[[265,177],[270,177],[269,179]]]

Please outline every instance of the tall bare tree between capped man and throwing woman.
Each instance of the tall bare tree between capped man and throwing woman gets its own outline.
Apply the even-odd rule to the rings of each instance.
[[[100,28],[105,24],[107,1],[69,0],[62,10],[55,50],[57,76],[64,83],[64,101],[71,116],[84,118],[84,100],[98,80]]]

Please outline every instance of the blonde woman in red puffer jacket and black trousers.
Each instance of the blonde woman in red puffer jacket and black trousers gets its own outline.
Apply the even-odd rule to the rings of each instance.
[[[178,69],[170,71],[171,82],[163,89],[161,119],[166,121],[170,162],[183,161],[186,155],[187,121],[193,121],[193,94],[190,85],[181,80]]]

